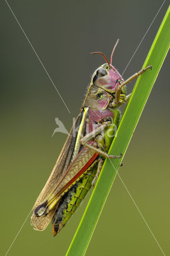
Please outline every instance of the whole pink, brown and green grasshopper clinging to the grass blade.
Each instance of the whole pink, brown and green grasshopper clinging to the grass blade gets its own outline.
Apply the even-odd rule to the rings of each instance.
[[[116,45],[118,41],[116,42]],[[130,98],[126,84],[152,66],[140,70],[127,80],[106,60],[95,70],[81,112],[76,118],[58,160],[46,185],[33,207],[31,224],[44,230],[52,220],[54,236],[65,226],[86,196],[94,187],[105,158],[121,158],[107,152],[115,136],[115,126],[120,123],[120,109]]]

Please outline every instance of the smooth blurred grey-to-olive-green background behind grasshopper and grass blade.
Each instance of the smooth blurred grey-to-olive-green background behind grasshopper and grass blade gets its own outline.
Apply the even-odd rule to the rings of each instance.
[[[105,62],[90,52],[102,51],[109,58],[120,38],[113,64],[122,74],[162,2],[8,1],[69,114],[6,2],[1,1],[1,255],[28,216],[66,140],[62,133],[52,137],[55,117],[70,130],[90,75]],[[142,67],[167,8],[168,1],[124,78]],[[167,56],[119,169],[166,255],[170,254],[169,67]],[[133,86],[134,82],[128,85],[128,93]],[[37,232],[29,217],[8,255],[65,255],[89,198],[90,194],[55,238],[51,225]],[[91,255],[163,255],[118,176],[88,246],[86,256]]]

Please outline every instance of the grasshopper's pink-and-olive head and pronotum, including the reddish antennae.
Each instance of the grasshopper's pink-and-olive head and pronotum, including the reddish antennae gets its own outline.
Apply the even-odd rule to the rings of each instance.
[[[118,44],[118,40],[116,45]],[[114,108],[120,106],[116,102],[115,104],[115,94],[118,86],[124,82],[122,76],[118,73],[116,68],[112,66],[112,56],[116,45],[113,48],[110,63],[108,62],[106,56],[102,52],[92,52],[91,54],[99,53],[101,54],[107,63],[103,64],[97,68],[92,74],[91,84],[88,88],[86,98],[83,102],[82,107],[98,108],[104,110],[106,108]],[[126,86],[122,87],[123,97],[126,95]]]

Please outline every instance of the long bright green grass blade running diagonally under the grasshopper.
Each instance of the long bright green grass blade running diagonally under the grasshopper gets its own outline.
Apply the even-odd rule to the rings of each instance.
[[[128,102],[128,106],[124,112],[122,121],[118,128],[117,137],[114,138],[109,154],[119,155],[120,152],[123,155],[125,154],[134,129],[138,123],[142,110],[146,104],[150,91],[158,76],[169,47],[170,7],[166,12],[164,20],[162,21],[162,24],[143,65],[143,67],[146,67],[149,64],[152,65],[152,71],[147,70],[136,81],[132,96]],[[161,86],[163,87],[163,85]],[[115,159],[111,161],[112,162],[107,159],[104,162],[100,177],[98,178],[97,184],[88,202],[88,206],[86,207],[82,220],[78,226],[66,256],[82,256],[86,252],[90,238],[93,234],[94,228],[122,159]]]

